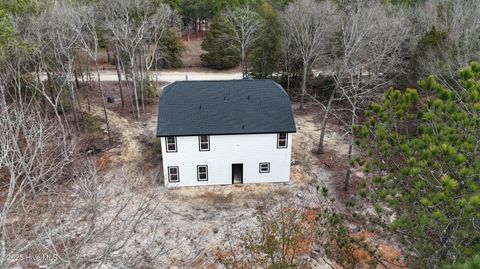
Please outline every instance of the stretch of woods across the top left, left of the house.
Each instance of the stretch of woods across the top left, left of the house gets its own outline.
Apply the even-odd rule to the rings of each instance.
[[[138,119],[145,103],[156,96],[150,71],[178,65],[183,50],[171,30],[178,14],[158,1],[3,5],[1,100],[41,101],[59,120],[65,117],[61,124],[66,128],[70,128],[66,115],[73,117],[77,131],[82,129],[81,106],[89,105],[91,90],[104,97],[99,73],[102,51],[116,67],[122,107],[129,106]],[[104,114],[108,126],[105,105]]]

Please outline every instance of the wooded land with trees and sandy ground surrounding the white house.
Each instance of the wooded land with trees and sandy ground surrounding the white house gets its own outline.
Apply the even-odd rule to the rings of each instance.
[[[166,190],[172,70],[282,85],[292,182]],[[480,268],[480,1],[0,0],[0,230],[0,268]]]

